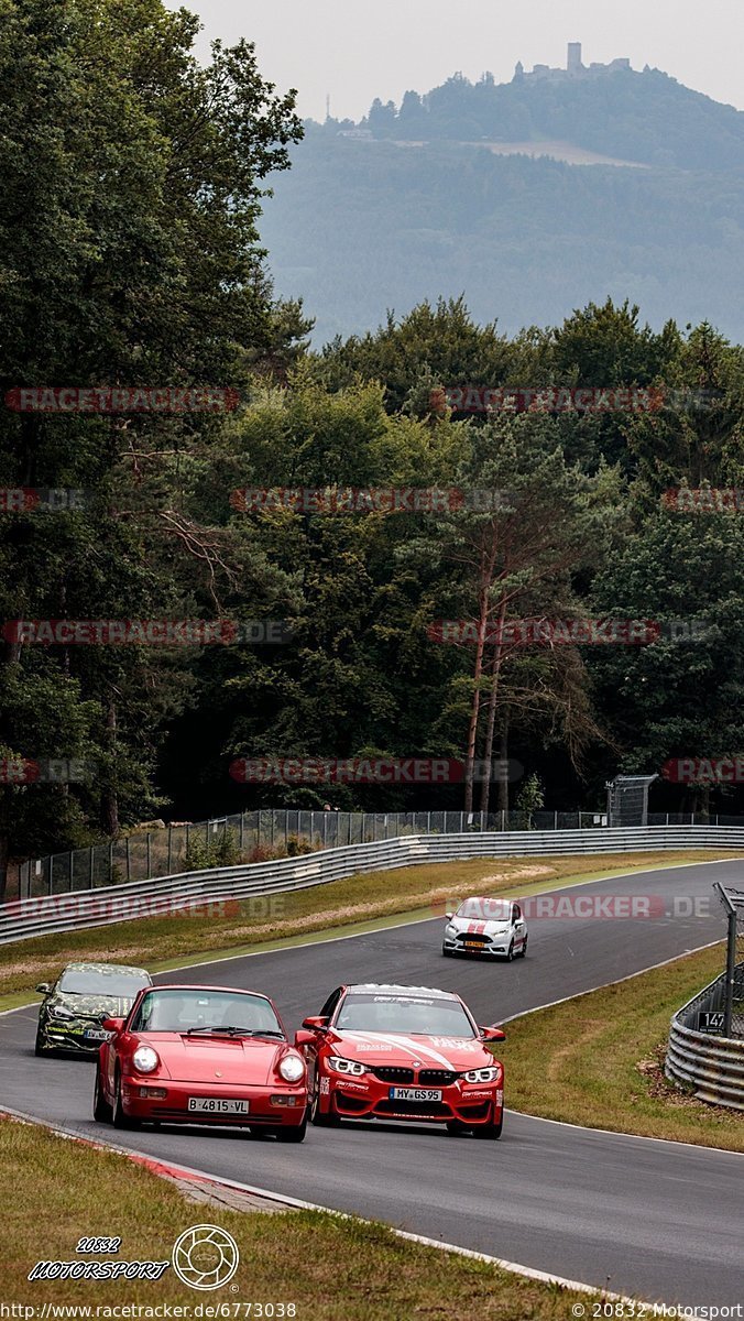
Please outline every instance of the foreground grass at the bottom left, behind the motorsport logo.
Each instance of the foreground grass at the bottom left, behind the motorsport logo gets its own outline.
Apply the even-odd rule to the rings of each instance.
[[[244,1168],[235,1170],[246,1181],[250,1148],[246,1140]],[[188,1162],[186,1139],[184,1159]],[[185,1316],[193,1317],[201,1303],[247,1318],[259,1314],[258,1303],[293,1303],[297,1321],[435,1316],[568,1321],[574,1304],[592,1305],[585,1293],[406,1242],[382,1225],[318,1211],[276,1215],[190,1206],[174,1185],[124,1156],[9,1119],[0,1120],[0,1197],[5,1207],[3,1295],[8,1301],[36,1304],[37,1314],[44,1303],[111,1308],[168,1303],[188,1308]],[[229,1230],[241,1250],[233,1283],[213,1293],[194,1292],[172,1269],[159,1281],[28,1280],[37,1260],[85,1260],[75,1258],[78,1239],[95,1235],[120,1236],[120,1260],[168,1260],[176,1238],[205,1222]],[[104,1258],[96,1252],[93,1259]],[[279,1316],[278,1308],[274,1314]]]

